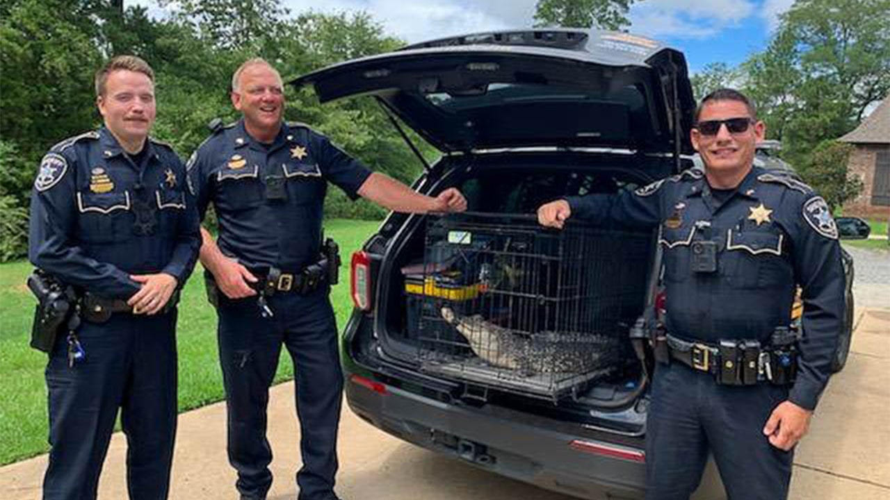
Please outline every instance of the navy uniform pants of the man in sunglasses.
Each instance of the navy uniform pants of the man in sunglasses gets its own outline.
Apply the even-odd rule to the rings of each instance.
[[[688,500],[713,453],[730,500],[788,496],[790,452],[763,433],[788,388],[718,385],[680,363],[658,364],[646,431],[647,500]]]

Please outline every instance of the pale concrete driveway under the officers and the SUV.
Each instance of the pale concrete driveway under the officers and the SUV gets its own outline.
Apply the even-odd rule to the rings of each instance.
[[[791,498],[883,500],[890,497],[890,309],[857,310],[853,351],[829,385],[810,435],[797,450]],[[272,390],[270,438],[275,482],[270,500],[295,498],[299,466],[293,384]],[[225,407],[183,415],[174,459],[174,500],[237,499],[225,456]],[[125,437],[116,434],[100,498],[126,498]],[[344,408],[337,491],[346,500],[569,500],[483,472],[396,440]],[[46,457],[0,468],[7,500],[40,498]]]

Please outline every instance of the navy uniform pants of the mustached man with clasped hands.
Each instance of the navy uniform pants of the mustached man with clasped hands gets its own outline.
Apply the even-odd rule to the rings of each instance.
[[[167,497],[176,433],[175,327],[175,312],[83,321],[77,336],[86,357],[73,367],[67,335],[60,335],[46,366],[52,449],[44,500],[96,497],[118,408],[130,498]]]

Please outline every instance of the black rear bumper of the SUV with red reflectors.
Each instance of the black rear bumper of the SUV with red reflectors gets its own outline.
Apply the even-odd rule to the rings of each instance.
[[[351,344],[356,335],[362,327],[369,327],[363,319],[363,314],[353,315],[341,344],[346,400],[360,418],[401,440],[540,488],[596,500],[644,497],[643,462],[610,453],[595,455],[571,446],[581,440],[578,448],[593,445],[617,451],[619,456],[639,455],[643,453],[643,437],[616,435],[616,442],[610,442],[607,434],[577,423],[495,405],[472,407],[445,402],[367,378],[364,383],[356,382],[353,375],[375,376],[374,368],[361,366],[352,357]],[[425,385],[420,381],[409,383]],[[709,460],[692,500],[724,498],[716,466]]]

